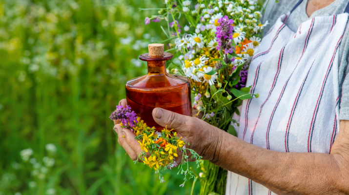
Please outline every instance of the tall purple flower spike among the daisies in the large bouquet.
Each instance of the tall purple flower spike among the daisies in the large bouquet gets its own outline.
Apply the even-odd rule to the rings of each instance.
[[[217,50],[223,50],[226,54],[233,52],[231,39],[233,39],[234,20],[229,20],[227,16],[218,19],[219,26],[216,27],[216,38],[218,42]]]

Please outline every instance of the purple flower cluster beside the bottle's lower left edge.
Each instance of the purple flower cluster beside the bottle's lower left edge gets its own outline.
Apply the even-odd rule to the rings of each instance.
[[[134,111],[131,112],[131,107],[128,105],[126,105],[126,108],[123,106],[116,106],[116,110],[111,113],[109,118],[111,120],[119,119],[128,129],[134,127],[135,123],[138,122],[136,113]]]

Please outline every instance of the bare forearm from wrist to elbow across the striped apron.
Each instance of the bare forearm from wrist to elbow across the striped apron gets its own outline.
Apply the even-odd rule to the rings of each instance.
[[[223,131],[219,134],[221,143],[211,161],[226,170],[277,194],[346,194],[338,186],[338,180],[344,179],[339,165],[341,155],[275,152]]]

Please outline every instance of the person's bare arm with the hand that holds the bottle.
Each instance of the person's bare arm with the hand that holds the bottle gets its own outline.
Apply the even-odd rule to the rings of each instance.
[[[276,194],[349,194],[349,121],[341,121],[331,154],[281,153],[249,144],[195,117],[160,108],[155,108],[152,115],[161,126],[174,128],[204,159],[250,178]],[[116,128],[129,137],[119,135],[122,139],[119,143],[132,159],[137,159],[141,150],[133,133],[118,125]]]

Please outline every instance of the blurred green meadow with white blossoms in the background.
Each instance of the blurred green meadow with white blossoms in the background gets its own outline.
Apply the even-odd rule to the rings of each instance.
[[[176,170],[161,184],[134,165],[108,118],[125,97],[125,82],[146,73],[138,55],[165,39],[158,23],[144,25],[156,12],[138,8],[163,6],[0,0],[0,195],[190,194],[192,180],[179,187]],[[33,155],[24,161],[27,148]]]

